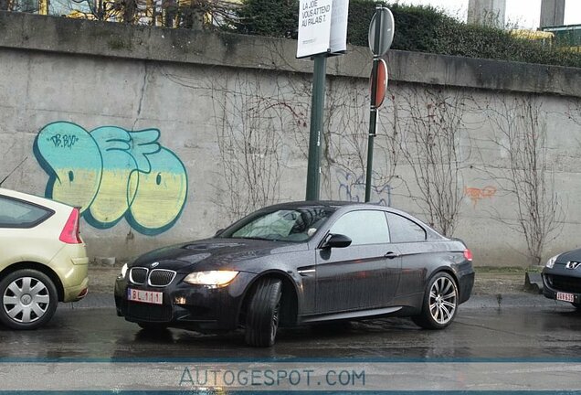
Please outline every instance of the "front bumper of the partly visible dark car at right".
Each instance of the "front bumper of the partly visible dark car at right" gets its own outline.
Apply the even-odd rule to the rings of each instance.
[[[565,301],[581,304],[581,271],[565,268],[565,264],[555,263],[552,269],[544,268],[543,294],[549,299],[563,300],[563,294],[573,296],[573,300]],[[557,294],[561,299],[557,299]],[[565,296],[566,297],[566,296]]]

